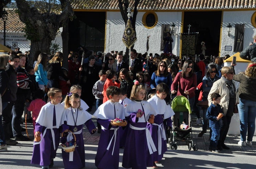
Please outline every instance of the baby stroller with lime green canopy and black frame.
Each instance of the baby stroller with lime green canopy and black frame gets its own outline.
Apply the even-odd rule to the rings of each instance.
[[[188,150],[193,148],[197,150],[196,144],[193,143],[192,127],[191,127],[191,116],[190,104],[188,99],[184,96],[176,96],[171,105],[175,115],[172,116],[172,131],[170,134],[169,147],[170,149],[177,149],[178,145],[176,141],[185,141],[188,145]],[[181,129],[181,124],[186,123],[189,125],[187,129]]]

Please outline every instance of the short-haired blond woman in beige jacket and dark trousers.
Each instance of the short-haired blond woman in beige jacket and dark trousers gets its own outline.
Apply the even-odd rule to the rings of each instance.
[[[224,116],[220,121],[220,138],[217,148],[219,150],[229,150],[230,148],[224,144],[227,137],[231,118],[233,116],[234,106],[237,103],[235,84],[232,79],[234,76],[233,67],[224,66],[221,69],[221,78],[213,83],[211,90],[208,94],[208,102],[211,104],[211,94],[218,93],[221,95],[220,106],[223,110]]]

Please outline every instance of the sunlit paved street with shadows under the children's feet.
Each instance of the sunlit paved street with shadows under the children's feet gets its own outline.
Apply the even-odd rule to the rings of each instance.
[[[93,113],[94,111],[90,112]],[[256,137],[253,140],[252,147],[241,147],[237,145],[240,136],[228,135],[226,145],[231,150],[222,151],[221,153],[212,153],[207,151],[209,147],[209,131],[203,137],[198,138],[197,135],[202,129],[202,125],[196,125],[196,117],[192,116],[193,140],[197,144],[198,151],[188,151],[188,146],[178,142],[177,150],[170,150],[164,154],[164,158],[159,169],[255,169],[256,168]],[[93,121],[96,119],[93,118]],[[33,138],[33,125],[28,124],[29,137]],[[25,134],[25,133],[24,133]],[[84,141],[86,153],[86,169],[96,169],[94,158],[97,151],[97,144],[100,134],[90,135],[88,130],[84,128]],[[0,152],[0,169],[39,169],[40,166],[30,164],[33,142],[19,141],[15,146],[8,146],[7,152]],[[169,146],[168,146],[169,147]],[[122,167],[123,149],[120,149],[119,168]],[[61,158],[61,148],[57,151],[57,157],[54,159],[54,169],[63,169]],[[150,169],[148,167],[148,169]]]

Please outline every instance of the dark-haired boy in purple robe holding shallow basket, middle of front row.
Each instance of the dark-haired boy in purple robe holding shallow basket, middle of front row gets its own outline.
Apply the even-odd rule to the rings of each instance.
[[[118,169],[119,166],[119,126],[113,124],[115,118],[124,119],[124,108],[118,103],[120,89],[109,86],[106,90],[108,101],[99,106],[93,114],[101,125],[95,166],[98,169]]]

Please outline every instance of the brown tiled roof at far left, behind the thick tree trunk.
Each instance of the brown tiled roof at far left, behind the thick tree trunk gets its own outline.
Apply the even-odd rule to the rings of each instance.
[[[25,24],[20,20],[15,10],[5,9],[8,13],[5,31],[6,33],[24,33]],[[3,32],[3,19],[0,18],[0,32]]]

